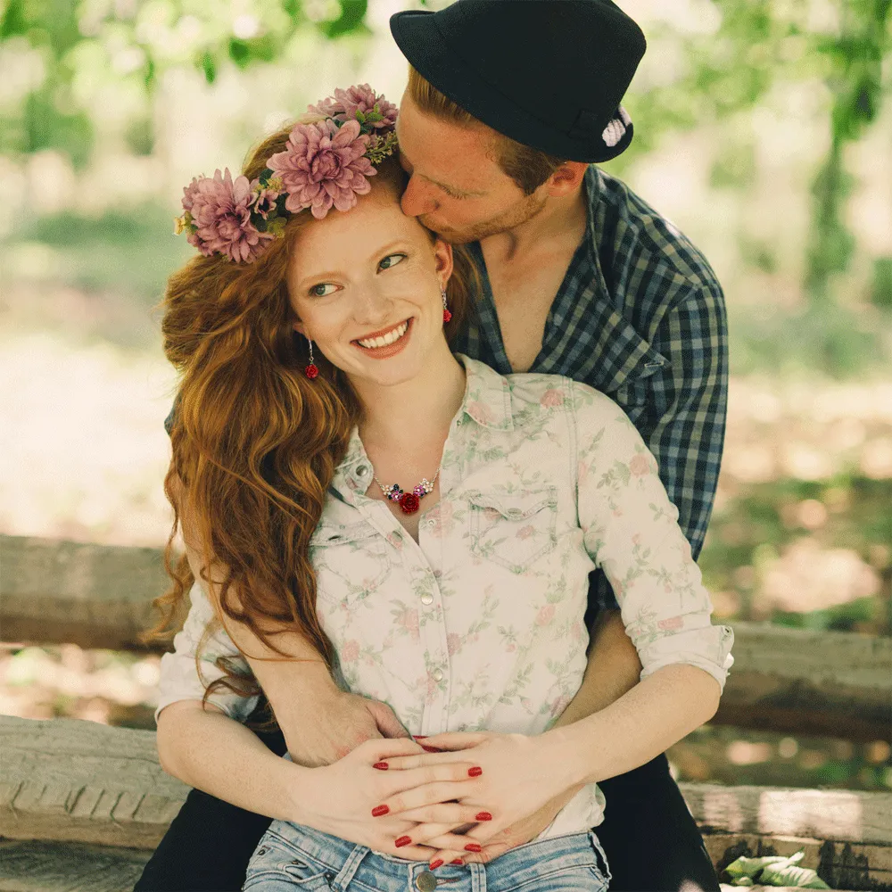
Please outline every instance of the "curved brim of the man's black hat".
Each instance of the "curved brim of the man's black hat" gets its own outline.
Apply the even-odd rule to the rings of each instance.
[[[390,20],[391,33],[409,64],[443,95],[448,96],[477,120],[523,145],[566,161],[610,161],[632,142],[632,122],[622,120],[617,110],[607,125],[612,133],[622,132],[614,145],[603,136],[581,139],[569,136],[547,121],[517,105],[481,78],[471,64],[454,51],[442,37],[434,12],[405,10]],[[622,128],[617,131],[616,127]]]

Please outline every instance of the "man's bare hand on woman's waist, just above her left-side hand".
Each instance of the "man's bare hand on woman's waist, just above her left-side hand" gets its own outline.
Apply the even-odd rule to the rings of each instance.
[[[299,709],[279,724],[292,761],[307,768],[333,764],[366,740],[409,737],[386,703],[337,689],[301,698]]]

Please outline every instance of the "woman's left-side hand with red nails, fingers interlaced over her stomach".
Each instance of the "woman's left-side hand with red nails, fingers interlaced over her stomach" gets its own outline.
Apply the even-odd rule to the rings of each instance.
[[[448,764],[390,770],[394,759],[423,753],[410,739],[375,739],[334,764],[305,769],[293,820],[411,860],[431,858],[435,849],[425,845],[431,836],[437,847],[462,849],[465,841],[443,832],[443,825],[477,820],[479,808],[450,800],[475,793],[482,780],[479,766],[456,754]],[[420,822],[434,828],[423,831]]]

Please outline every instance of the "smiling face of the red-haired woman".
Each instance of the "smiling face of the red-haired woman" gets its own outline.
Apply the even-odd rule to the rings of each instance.
[[[356,206],[301,230],[288,266],[299,322],[337,368],[358,383],[400,384],[442,350],[442,288],[452,252],[376,184]]]

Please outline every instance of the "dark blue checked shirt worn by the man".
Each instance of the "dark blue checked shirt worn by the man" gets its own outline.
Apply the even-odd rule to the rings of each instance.
[[[585,187],[586,234],[529,370],[590,384],[623,407],[657,458],[697,558],[713,508],[728,401],[722,288],[688,239],[619,180],[590,167]],[[479,244],[470,248],[483,295],[455,349],[508,375],[483,252]],[[599,607],[617,604],[596,571],[587,624]]]

